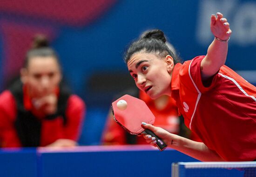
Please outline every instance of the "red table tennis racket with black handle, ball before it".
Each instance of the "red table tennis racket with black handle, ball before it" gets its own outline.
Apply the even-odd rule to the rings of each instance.
[[[155,137],[156,146],[163,151],[167,145],[158,138],[155,133],[141,126],[142,122],[153,125],[155,116],[150,111],[146,103],[131,95],[123,95],[112,103],[114,120],[128,133],[138,135],[146,133]]]

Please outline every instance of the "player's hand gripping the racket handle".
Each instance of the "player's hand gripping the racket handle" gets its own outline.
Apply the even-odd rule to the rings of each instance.
[[[144,128],[151,130],[152,132],[154,132],[155,135],[158,136],[160,139],[162,139],[166,145],[171,145],[171,141],[172,141],[171,135],[172,134],[169,133],[168,131],[166,131],[160,127],[152,126],[150,124],[146,124],[146,125],[142,124],[142,126]],[[148,134],[144,134],[143,138],[146,139],[147,143],[150,143],[151,145],[156,146],[155,145],[156,144],[155,137],[152,137],[151,135],[148,135]]]

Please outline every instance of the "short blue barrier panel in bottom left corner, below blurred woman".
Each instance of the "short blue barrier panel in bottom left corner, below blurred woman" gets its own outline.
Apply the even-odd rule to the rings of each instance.
[[[36,177],[37,157],[35,149],[1,149],[1,177]]]

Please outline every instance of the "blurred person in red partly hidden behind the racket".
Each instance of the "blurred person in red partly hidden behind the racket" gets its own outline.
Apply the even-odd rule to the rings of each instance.
[[[155,126],[161,126],[170,133],[179,134],[183,137],[200,141],[198,137],[195,137],[194,133],[184,125],[182,116],[178,116],[178,108],[175,105],[173,98],[167,95],[152,100],[143,91],[129,90],[126,94],[135,96],[145,101],[149,109],[155,115]],[[116,97],[119,98],[120,94]],[[126,132],[121,126],[119,126],[114,118],[112,111],[109,111],[108,119],[106,122],[105,129],[102,134],[103,145],[128,145],[128,144],[148,144],[146,140],[140,136],[131,135]]]

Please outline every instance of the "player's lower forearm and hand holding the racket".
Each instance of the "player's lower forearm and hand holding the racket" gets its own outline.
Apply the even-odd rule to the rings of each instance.
[[[201,161],[224,161],[215,151],[210,150],[205,144],[201,142],[192,141],[181,136],[167,132],[166,130],[152,126],[150,124],[143,125],[145,128],[153,131],[159,138],[161,138],[168,147],[171,147],[179,152],[182,152],[190,157]],[[154,138],[150,135],[143,136],[148,143],[155,145]]]

